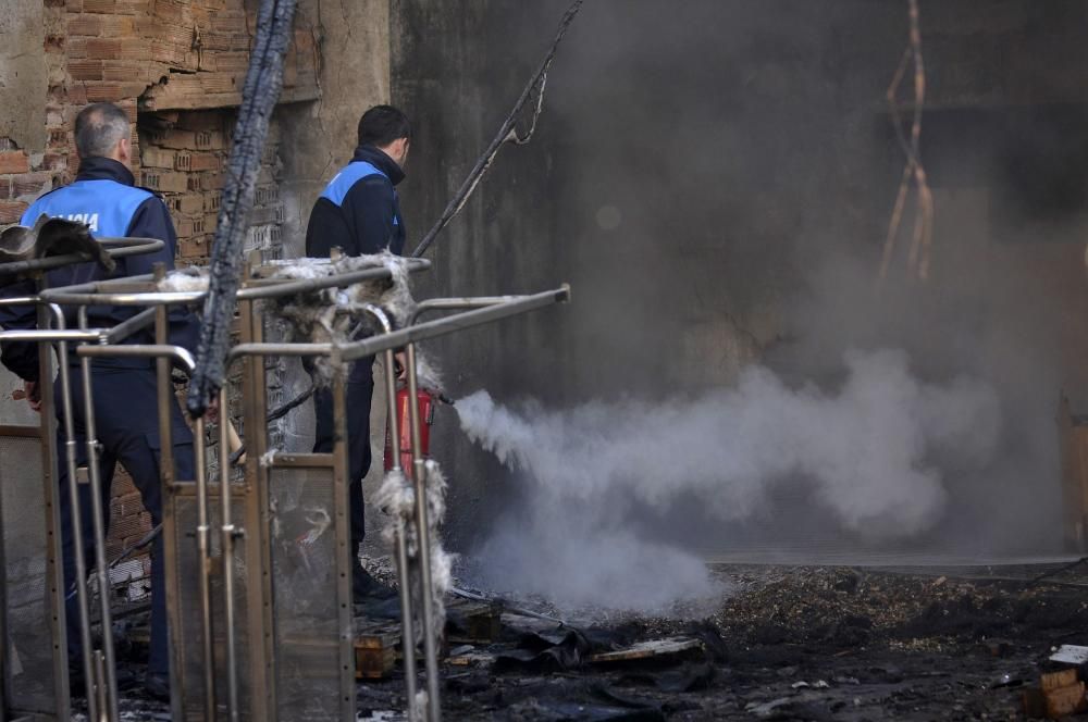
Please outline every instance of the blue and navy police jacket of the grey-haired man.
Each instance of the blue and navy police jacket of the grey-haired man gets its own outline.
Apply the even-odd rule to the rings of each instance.
[[[109,158],[83,159],[75,182],[41,196],[23,213],[20,223],[33,226],[42,214],[86,223],[95,236],[132,236],[165,241],[165,247],[154,253],[118,259],[118,267],[112,274],[107,274],[97,263],[82,263],[50,271],[47,276],[51,288],[107,277],[151,273],[151,266],[160,262],[168,270],[174,267],[177,235],[165,204],[150,190],[135,187],[132,172],[118,161]],[[3,288],[7,297],[34,292],[34,284],[29,281]],[[87,310],[88,323],[91,327],[111,327],[141,310],[134,307],[92,306]],[[65,309],[65,316],[69,327],[75,327],[75,309]],[[0,326],[9,329],[34,328],[37,326],[36,311],[33,307],[0,307]],[[171,344],[195,351],[199,333],[199,321],[191,311],[171,309]],[[154,334],[148,328],[134,334],[124,343],[153,344]],[[38,379],[37,344],[3,344],[0,361],[26,381]],[[144,359],[98,359],[95,366],[150,368],[151,362]]]

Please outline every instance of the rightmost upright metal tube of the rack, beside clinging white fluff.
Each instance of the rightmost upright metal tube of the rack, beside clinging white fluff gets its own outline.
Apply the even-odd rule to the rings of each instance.
[[[431,532],[426,519],[426,464],[423,462],[420,439],[419,402],[416,384],[416,345],[408,348],[408,423],[411,424],[411,456],[416,486],[416,539],[419,545],[420,596],[423,598],[423,657],[426,664],[428,720],[442,720],[442,705],[438,697],[438,651],[434,628],[434,583],[431,578]]]

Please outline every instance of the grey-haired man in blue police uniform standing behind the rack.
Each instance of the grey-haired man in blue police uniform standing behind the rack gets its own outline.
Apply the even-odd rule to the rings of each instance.
[[[174,266],[174,251],[177,237],[170,214],[162,200],[149,190],[135,187],[135,178],[128,170],[132,160],[132,128],[123,110],[110,103],[96,103],[84,109],[75,121],[75,146],[79,154],[79,172],[76,179],[46,194],[23,214],[22,225],[33,226],[42,214],[86,223],[92,235],[136,236],[159,238],[165,247],[146,256],[118,259],[113,276],[131,276],[150,273],[152,264],[163,263],[166,269]],[[48,274],[51,287],[87,283],[106,277],[102,267],[96,263],[85,263],[52,271]],[[33,292],[32,288],[18,285],[4,289],[7,295]],[[131,307],[95,306],[88,309],[91,327],[110,327],[131,318],[139,309]],[[67,311],[66,311],[67,313]],[[199,334],[196,316],[187,310],[174,309],[170,314],[172,344],[195,349]],[[69,320],[74,325],[73,316]],[[36,325],[32,308],[0,310],[0,325],[4,328],[33,328]],[[127,344],[153,344],[150,331],[144,331],[126,339]],[[36,406],[38,378],[38,347],[36,344],[4,344],[3,364],[24,379],[32,407]],[[78,373],[75,356],[60,362],[73,366],[73,414],[77,440],[77,462],[85,465],[86,437],[83,406],[83,376]],[[163,439],[159,438],[158,403],[156,395],[154,362],[150,359],[98,359],[92,364],[95,397],[95,425],[102,448],[99,455],[102,478],[102,508],[110,508],[110,481],[120,461],[133,477],[139,489],[144,507],[150,512],[151,521],[158,524],[162,519],[162,499],[159,460]],[[57,387],[57,398],[60,388]],[[70,508],[71,483],[64,461],[64,423],[62,408],[57,404],[58,433],[57,448],[60,452],[60,514],[64,550],[64,584],[71,589],[75,583],[74,539],[71,528]],[[193,436],[182,418],[181,409],[174,404],[173,438],[174,459],[178,478],[194,478]],[[90,488],[78,485],[79,506],[83,521],[84,550],[87,568],[94,565],[94,538],[91,526]],[[163,571],[162,537],[154,543],[151,565],[151,649],[148,660],[145,686],[151,695],[166,698],[170,694],[170,661],[166,644],[166,596]],[[83,685],[83,665],[79,663],[78,608],[75,599],[70,599],[66,608],[70,667],[73,687]]]

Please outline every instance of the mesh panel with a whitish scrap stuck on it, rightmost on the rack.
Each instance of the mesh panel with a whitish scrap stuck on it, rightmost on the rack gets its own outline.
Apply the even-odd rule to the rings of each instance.
[[[336,527],[331,469],[269,474],[281,722],[341,717]]]

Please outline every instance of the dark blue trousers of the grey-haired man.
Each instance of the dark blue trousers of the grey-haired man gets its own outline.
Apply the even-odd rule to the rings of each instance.
[[[73,423],[76,459],[87,464],[86,423],[83,403],[83,374],[78,366],[70,368],[73,390]],[[150,365],[140,369],[96,368],[91,374],[95,408],[95,431],[99,452],[99,478],[102,480],[102,511],[109,523],[110,487],[118,462],[128,471],[151,514],[152,525],[162,521],[162,484],[159,474],[162,443],[159,438],[159,412],[156,396],[156,374]],[[75,584],[75,542],[72,534],[71,480],[65,458],[63,407],[60,381],[54,384],[57,398],[57,449],[60,469],[62,544],[64,550],[64,588]],[[172,435],[175,478],[193,480],[193,434],[176,403],[172,404]],[[87,570],[95,565],[94,518],[89,484],[78,484],[79,513],[83,524],[83,549]],[[69,657],[79,664],[79,608],[75,596],[65,607],[67,617]],[[166,643],[166,590],[163,568],[162,535],[151,548],[151,650],[148,672],[168,674],[170,655]]]

